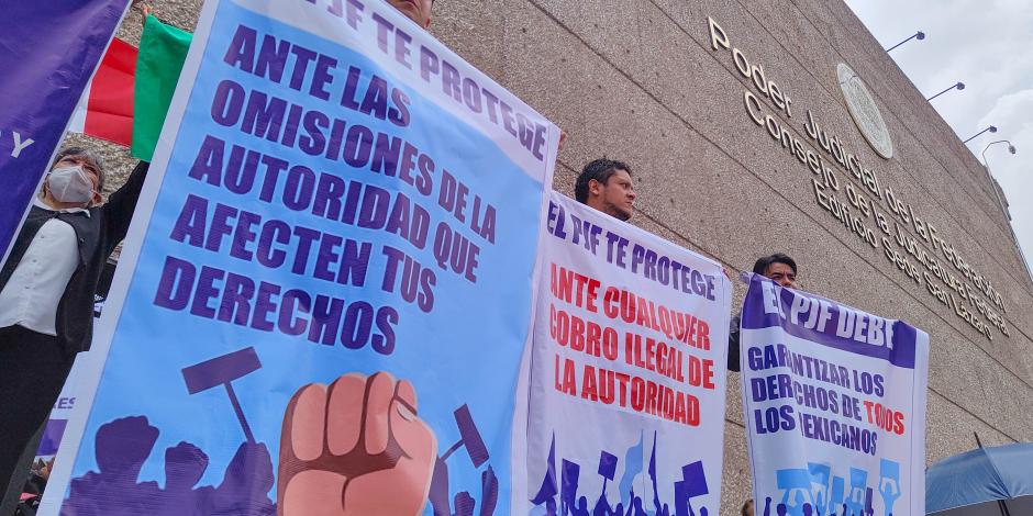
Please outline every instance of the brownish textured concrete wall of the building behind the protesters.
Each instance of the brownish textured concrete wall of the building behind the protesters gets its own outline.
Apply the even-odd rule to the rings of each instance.
[[[192,30],[199,4],[160,2],[156,14]],[[627,161],[640,193],[635,224],[735,269],[785,251],[800,263],[807,290],[926,330],[930,462],[973,448],[973,431],[988,445],[1033,440],[1033,284],[996,187],[844,3],[438,0],[434,14],[432,29],[441,40],[568,133],[557,190],[570,194],[576,171],[590,159]],[[708,18],[792,99],[791,117],[737,71],[730,51],[712,49]],[[138,34],[133,13],[120,36],[135,44]],[[836,78],[838,63],[848,64],[875,97],[893,139],[893,158],[877,156],[855,126]],[[823,194],[859,216],[875,247],[821,205],[813,186],[820,177],[753,122],[746,91],[829,164],[840,190]],[[884,199],[867,192],[806,135],[808,110],[874,171]],[[121,159],[118,149],[107,148]],[[122,164],[127,172],[130,165]],[[989,337],[981,334],[953,304],[930,293],[925,278],[915,282],[888,259],[890,249],[907,257],[918,276],[928,271],[882,233],[874,213],[865,216],[849,204],[847,184],[882,214],[891,232],[900,225],[918,248],[975,287],[937,244],[891,212],[886,189],[934,226],[942,242],[1000,293],[1000,305],[979,298],[1003,315],[1009,336],[993,326]],[[932,283],[954,292],[943,281]],[[989,324],[970,303],[958,299],[958,304]],[[731,375],[725,515],[737,514],[751,492],[740,380]]]

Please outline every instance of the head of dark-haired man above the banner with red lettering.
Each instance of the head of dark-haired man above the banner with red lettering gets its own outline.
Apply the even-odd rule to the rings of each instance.
[[[621,221],[631,218],[635,204],[631,167],[607,158],[586,165],[574,184],[574,198]]]

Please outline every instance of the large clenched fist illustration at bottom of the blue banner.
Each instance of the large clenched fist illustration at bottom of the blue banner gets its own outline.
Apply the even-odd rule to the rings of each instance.
[[[436,451],[408,381],[379,372],[310,383],[284,414],[277,513],[422,514]]]

